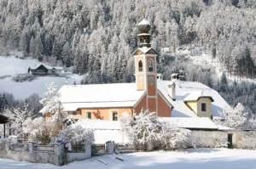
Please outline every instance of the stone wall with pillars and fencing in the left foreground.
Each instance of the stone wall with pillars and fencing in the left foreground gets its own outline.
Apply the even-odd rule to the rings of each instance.
[[[0,158],[9,158],[15,161],[28,161],[33,163],[49,163],[63,166],[72,161],[81,161],[90,158],[90,145],[85,146],[84,152],[66,152],[63,144],[39,145],[24,143],[19,145],[5,141],[0,146]]]

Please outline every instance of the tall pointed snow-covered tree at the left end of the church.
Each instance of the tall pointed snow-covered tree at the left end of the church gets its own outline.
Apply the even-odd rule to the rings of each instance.
[[[63,107],[58,88],[55,86],[55,83],[52,82],[47,89],[48,91],[44,94],[44,98],[40,100],[40,103],[44,105],[44,115],[49,114],[52,121],[64,122],[67,118],[67,114],[62,111]]]

